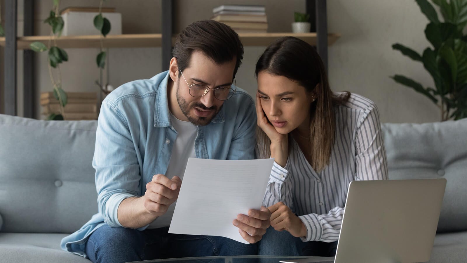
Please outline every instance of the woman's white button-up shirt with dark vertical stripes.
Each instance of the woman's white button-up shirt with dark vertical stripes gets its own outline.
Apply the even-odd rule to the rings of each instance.
[[[274,163],[263,199],[266,207],[283,202],[298,215],[306,227],[302,241],[338,240],[350,182],[388,179],[376,105],[352,94],[334,110],[336,131],[329,166],[317,173],[292,140],[287,164]]]

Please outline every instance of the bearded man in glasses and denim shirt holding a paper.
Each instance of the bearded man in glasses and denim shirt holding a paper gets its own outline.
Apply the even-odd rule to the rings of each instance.
[[[102,103],[92,161],[99,213],[62,240],[65,251],[112,263],[256,254],[228,238],[168,233],[188,158],[254,159],[256,128],[253,100],[232,85],[243,46],[230,27],[194,22],[173,53],[168,72],[124,84]],[[262,207],[233,224],[255,243],[269,217]]]

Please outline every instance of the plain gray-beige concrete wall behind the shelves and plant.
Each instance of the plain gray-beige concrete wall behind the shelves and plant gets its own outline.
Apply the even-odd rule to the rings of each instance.
[[[43,23],[52,0],[35,1],[35,34],[48,35],[50,27]],[[71,6],[96,6],[96,0],[62,0],[60,9]],[[248,0],[175,0],[174,30],[180,32],[193,21],[208,19],[212,8],[221,4],[251,4]],[[290,31],[293,11],[304,11],[304,0],[255,0],[265,5],[269,32]],[[2,5],[4,6],[4,5]],[[106,7],[116,7],[122,13],[124,34],[160,33],[161,0],[107,0]],[[348,90],[368,97],[379,107],[382,122],[432,122],[440,119],[436,105],[410,88],[396,84],[390,75],[403,73],[422,84],[432,86],[423,66],[412,62],[393,43],[401,43],[422,52],[428,46],[424,36],[427,20],[415,1],[392,0],[328,0],[328,30],[342,37],[329,47],[329,78],[334,91]],[[22,1],[18,3],[18,31],[22,35]],[[251,95],[255,94],[254,68],[265,47],[245,47],[243,64],[237,74],[237,84]],[[1,50],[3,51],[3,50]],[[98,49],[67,49],[69,62],[61,66],[66,91],[98,91],[94,81],[99,79],[95,63]],[[2,55],[0,58],[3,60]],[[22,115],[22,52],[18,52],[18,114]],[[161,71],[160,48],[119,48],[109,52],[109,83],[114,87],[146,79]],[[1,69],[1,68],[0,68]],[[0,76],[2,76],[0,73]],[[3,86],[3,79],[1,79]],[[47,54],[36,54],[35,89],[37,94],[52,90],[47,67]],[[3,91],[1,111],[3,110]],[[40,108],[36,103],[37,118]],[[1,112],[0,111],[0,112]]]

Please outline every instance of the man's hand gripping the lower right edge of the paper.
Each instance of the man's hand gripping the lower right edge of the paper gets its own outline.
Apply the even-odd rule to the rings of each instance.
[[[250,209],[248,215],[239,214],[233,219],[233,225],[239,228],[241,236],[249,243],[256,243],[266,233],[270,223],[271,212],[262,206],[261,210]],[[251,235],[250,235],[251,234]]]

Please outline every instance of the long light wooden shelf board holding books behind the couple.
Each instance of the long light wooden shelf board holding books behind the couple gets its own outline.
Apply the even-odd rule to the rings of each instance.
[[[316,33],[242,33],[239,34],[244,46],[267,46],[279,37],[293,36],[305,42],[316,45]],[[332,45],[340,37],[339,34],[328,34],[328,45]],[[172,37],[175,44],[176,36]],[[49,44],[49,36],[18,37],[17,49],[29,49],[29,44],[39,41]],[[125,34],[108,35],[104,45],[109,48],[124,47],[159,47],[162,34]],[[0,37],[0,46],[5,46],[5,37]],[[61,48],[99,48],[100,36],[66,36],[57,39],[57,46]]]

